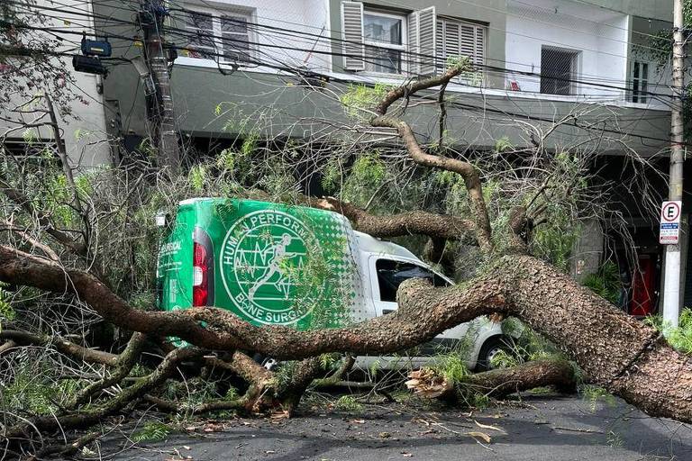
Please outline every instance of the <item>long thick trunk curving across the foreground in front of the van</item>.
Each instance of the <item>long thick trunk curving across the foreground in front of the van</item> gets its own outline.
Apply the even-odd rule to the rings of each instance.
[[[288,359],[327,352],[387,354],[414,347],[463,321],[502,312],[526,321],[560,345],[592,382],[652,415],[692,421],[688,357],[663,343],[652,343],[656,334],[651,328],[554,267],[525,255],[497,259],[484,276],[464,286],[432,288],[422,280],[407,281],[399,288],[396,314],[332,330],[256,327],[217,308],[136,311],[94,276],[66,271],[6,247],[0,247],[0,280],[77,293],[107,320],[126,329],[177,336],[204,348],[249,349]],[[206,321],[207,328],[200,327],[200,321]]]

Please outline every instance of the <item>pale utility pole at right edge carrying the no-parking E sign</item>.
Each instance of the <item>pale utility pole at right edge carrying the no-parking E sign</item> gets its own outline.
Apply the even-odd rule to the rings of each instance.
[[[683,0],[673,5],[673,104],[670,111],[669,201],[682,200],[682,167],[685,160],[682,104],[685,92],[685,38],[682,17]],[[678,326],[680,315],[680,246],[666,246],[666,270],[663,285],[663,320]]]

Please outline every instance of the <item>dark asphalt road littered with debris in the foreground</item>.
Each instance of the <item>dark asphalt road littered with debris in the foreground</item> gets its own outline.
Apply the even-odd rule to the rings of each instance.
[[[149,445],[114,436],[102,455],[162,461],[692,460],[690,426],[649,418],[619,399],[592,406],[577,396],[524,395],[521,402],[470,414],[410,403],[369,406],[360,414],[308,409],[291,420],[201,422],[188,429]]]

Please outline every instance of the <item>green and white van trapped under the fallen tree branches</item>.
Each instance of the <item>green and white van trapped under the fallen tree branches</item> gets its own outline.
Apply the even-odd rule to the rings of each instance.
[[[354,231],[336,212],[252,200],[195,198],[179,203],[157,267],[159,307],[228,309],[254,325],[335,328],[396,312],[407,278],[451,285],[409,250]],[[359,366],[423,366],[431,352],[474,324],[468,366],[485,367],[504,348],[485,320],[444,331],[407,357],[359,357]],[[426,350],[427,349],[427,350]]]

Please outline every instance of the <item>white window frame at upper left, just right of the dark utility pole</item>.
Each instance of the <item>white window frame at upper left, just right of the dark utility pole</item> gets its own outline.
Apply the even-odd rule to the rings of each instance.
[[[198,13],[198,14],[206,14],[210,15],[212,17],[212,35],[214,35],[214,54],[217,54],[219,56],[214,56],[214,59],[208,59],[205,57],[199,57],[196,58],[194,56],[183,56],[185,59],[190,59],[188,63],[192,64],[202,64],[202,63],[213,63],[214,66],[216,66],[216,60],[218,60],[218,63],[224,67],[231,66],[232,64],[237,64],[239,66],[247,66],[250,65],[251,63],[245,60],[238,60],[238,61],[233,61],[233,60],[226,60],[223,57],[223,37],[224,35],[231,34],[232,32],[223,32],[222,31],[222,23],[221,20],[223,16],[241,16],[244,17],[248,24],[251,26],[252,24],[255,24],[255,11],[250,10],[249,8],[244,8],[242,6],[238,5],[223,5],[218,8],[208,8],[208,7],[203,7],[200,5],[189,5],[186,7],[187,10],[189,10],[192,13]],[[195,27],[191,27],[190,25],[187,24],[187,13],[183,13],[183,27],[182,29],[185,29],[186,31],[189,32],[194,32],[196,30]],[[248,56],[250,58],[255,57],[255,50],[252,46],[251,42],[256,41],[254,32],[251,30],[251,27],[248,27]],[[189,47],[192,48],[192,47]],[[194,62],[196,61],[196,62]],[[187,64],[187,63],[186,63]]]

